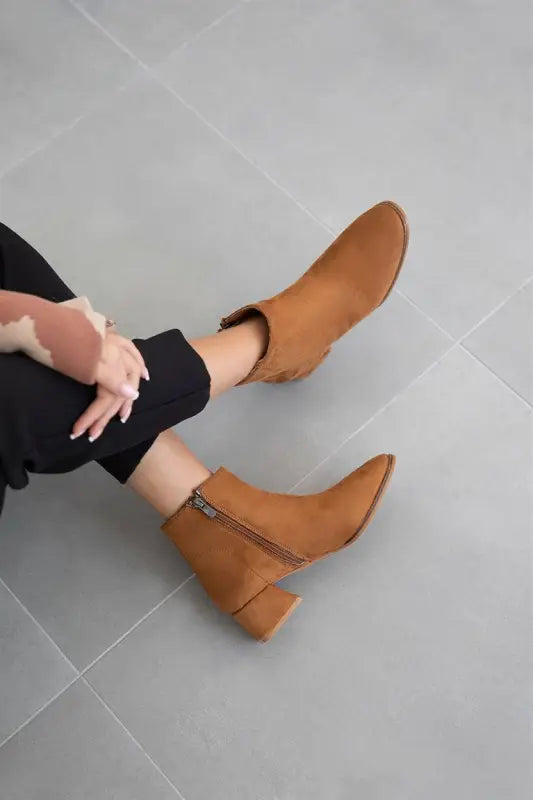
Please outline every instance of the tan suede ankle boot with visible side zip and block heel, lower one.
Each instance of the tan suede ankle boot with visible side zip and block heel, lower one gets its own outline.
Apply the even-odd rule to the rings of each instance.
[[[394,463],[394,456],[376,456],[306,497],[263,492],[219,469],[163,530],[222,611],[266,642],[301,602],[274,584],[355,541]]]

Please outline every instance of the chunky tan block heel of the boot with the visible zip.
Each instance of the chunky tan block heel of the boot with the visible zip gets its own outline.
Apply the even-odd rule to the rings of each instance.
[[[233,618],[255,639],[268,642],[301,602],[297,594],[271,585],[236,611]]]

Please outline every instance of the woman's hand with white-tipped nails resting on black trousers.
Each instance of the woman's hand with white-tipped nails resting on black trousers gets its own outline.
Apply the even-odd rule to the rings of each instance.
[[[96,398],[74,424],[70,438],[88,433],[89,441],[94,442],[116,414],[121,422],[127,422],[139,396],[141,377],[150,380],[143,357],[133,342],[108,332],[96,370]]]

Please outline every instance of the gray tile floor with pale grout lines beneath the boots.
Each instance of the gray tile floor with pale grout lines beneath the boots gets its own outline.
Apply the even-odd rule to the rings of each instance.
[[[181,428],[280,490],[398,455],[268,646],[96,467],[9,496],[2,800],[531,796],[530,15],[0,0],[0,216],[126,333],[213,330],[385,197],[412,225],[316,375]]]

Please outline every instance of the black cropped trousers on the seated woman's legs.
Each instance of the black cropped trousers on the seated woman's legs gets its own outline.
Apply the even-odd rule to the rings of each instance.
[[[0,223],[0,289],[62,302],[74,297],[27,242]],[[178,330],[134,340],[150,372],[126,424],[114,419],[93,444],[71,440],[76,419],[95,397],[84,386],[22,353],[0,353],[0,512],[5,487],[22,489],[29,472],[70,472],[98,461],[124,483],[155,438],[198,414],[209,399],[210,377]]]

